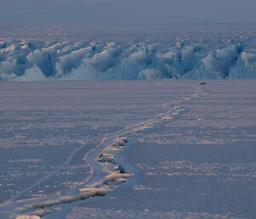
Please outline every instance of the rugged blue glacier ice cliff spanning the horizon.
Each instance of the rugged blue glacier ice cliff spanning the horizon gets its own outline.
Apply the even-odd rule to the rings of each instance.
[[[86,41],[0,39],[0,80],[256,78],[250,34],[125,36]]]

